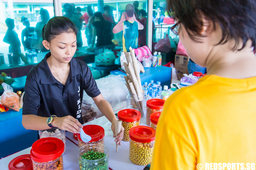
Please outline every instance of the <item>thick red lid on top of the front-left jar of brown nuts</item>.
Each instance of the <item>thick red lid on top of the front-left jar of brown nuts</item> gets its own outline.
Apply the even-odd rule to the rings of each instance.
[[[30,150],[31,159],[35,162],[49,162],[60,157],[64,152],[64,143],[58,138],[42,138],[35,141]]]

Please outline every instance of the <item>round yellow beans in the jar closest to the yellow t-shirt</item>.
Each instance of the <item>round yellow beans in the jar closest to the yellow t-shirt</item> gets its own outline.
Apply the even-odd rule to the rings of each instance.
[[[136,165],[151,163],[154,141],[150,143],[135,142],[130,139],[130,160]]]

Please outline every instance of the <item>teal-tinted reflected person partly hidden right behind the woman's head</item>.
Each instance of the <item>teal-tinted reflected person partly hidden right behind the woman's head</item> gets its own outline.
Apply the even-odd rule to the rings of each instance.
[[[79,18],[77,15],[73,14],[72,6],[70,3],[65,3],[63,5],[63,8],[66,13],[65,15],[63,15],[63,17],[69,18],[76,26],[76,29],[77,29],[76,45],[77,47],[82,47],[83,46],[82,35],[81,35],[82,25],[79,21]]]

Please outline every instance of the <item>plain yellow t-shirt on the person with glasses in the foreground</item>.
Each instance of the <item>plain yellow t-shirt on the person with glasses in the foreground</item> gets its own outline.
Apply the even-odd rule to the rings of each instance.
[[[166,101],[151,170],[196,170],[199,163],[203,170],[205,163],[256,164],[256,77],[207,75]]]

